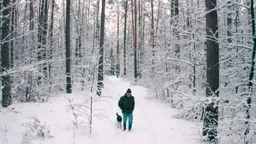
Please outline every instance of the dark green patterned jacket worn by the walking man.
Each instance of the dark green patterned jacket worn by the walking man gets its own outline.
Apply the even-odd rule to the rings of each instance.
[[[122,113],[132,113],[135,107],[134,97],[130,96],[128,98],[125,94],[119,99],[118,106],[122,110]]]

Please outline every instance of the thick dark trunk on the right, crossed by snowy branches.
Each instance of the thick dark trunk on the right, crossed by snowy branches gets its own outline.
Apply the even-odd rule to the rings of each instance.
[[[216,0],[205,0],[206,10],[210,11],[217,5]],[[214,35],[215,34],[215,35]],[[212,97],[203,115],[203,136],[206,141],[213,142],[217,137],[218,127],[218,101],[214,97],[219,96],[219,44],[218,39],[218,15],[217,10],[206,14],[206,35],[207,35],[207,71],[206,71],[206,97]]]

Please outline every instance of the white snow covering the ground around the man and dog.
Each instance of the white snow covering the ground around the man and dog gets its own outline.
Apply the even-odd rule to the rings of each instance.
[[[131,88],[135,97],[133,125],[131,131],[117,128],[116,112],[119,98],[127,88]],[[201,143],[197,136],[195,123],[172,118],[177,113],[167,104],[150,97],[148,89],[131,86],[129,82],[115,77],[105,78],[102,94],[110,96],[108,103],[101,102],[104,115],[92,120],[92,135],[88,136],[85,128],[74,129],[67,112],[68,101],[65,97],[78,97],[84,92],[59,94],[46,103],[14,103],[8,108],[0,108],[0,143],[22,143],[26,131],[25,123],[33,117],[48,125],[50,137],[31,140],[30,143]]]

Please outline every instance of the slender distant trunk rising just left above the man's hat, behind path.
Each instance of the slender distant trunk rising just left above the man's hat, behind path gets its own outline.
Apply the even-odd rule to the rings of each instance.
[[[127,22],[127,5],[128,0],[125,2],[125,23],[124,23],[124,75],[126,75],[126,22]]]

